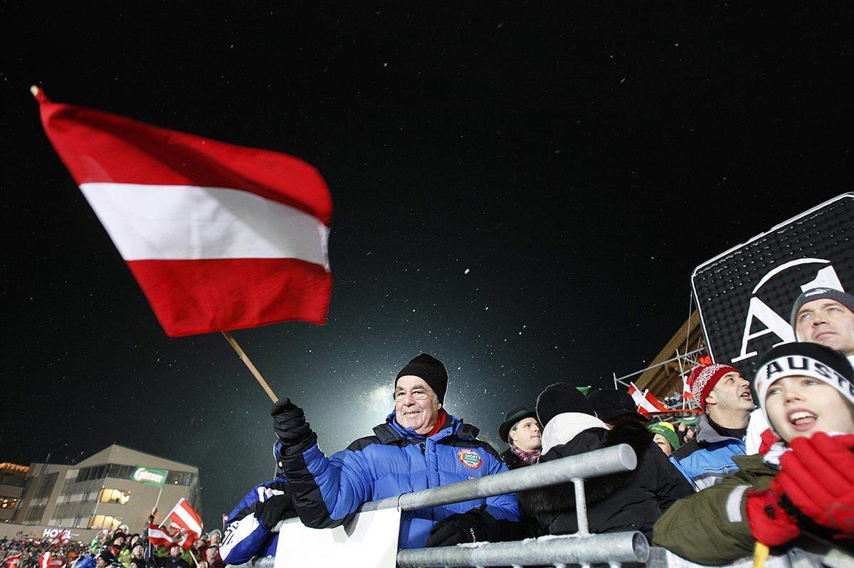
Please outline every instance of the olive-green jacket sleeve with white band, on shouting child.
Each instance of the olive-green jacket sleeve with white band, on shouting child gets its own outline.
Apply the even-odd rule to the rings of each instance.
[[[707,565],[730,564],[750,555],[754,540],[745,512],[750,490],[748,479],[735,473],[676,501],[653,527],[652,543]]]

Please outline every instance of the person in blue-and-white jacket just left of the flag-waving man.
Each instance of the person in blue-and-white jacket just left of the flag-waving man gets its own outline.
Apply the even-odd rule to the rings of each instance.
[[[219,548],[225,564],[238,565],[254,557],[275,556],[278,532],[272,532],[272,528],[283,518],[296,516],[288,481],[281,471],[282,442],[273,447],[273,458],[279,468],[278,475],[250,489],[225,519],[225,536]]]

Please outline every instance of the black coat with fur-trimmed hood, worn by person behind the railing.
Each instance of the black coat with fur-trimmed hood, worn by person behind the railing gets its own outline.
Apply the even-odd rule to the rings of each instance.
[[[570,442],[555,446],[541,458],[541,463],[558,460],[570,455],[583,454],[594,449],[609,448],[617,444],[629,444],[635,450],[638,464],[643,454],[652,448],[652,433],[646,430],[637,419],[617,420],[611,425],[611,430],[591,428],[582,431]],[[584,483],[584,493],[588,506],[604,500],[617,489],[633,483],[639,469],[626,471],[604,477],[594,477]],[[576,508],[575,487],[572,483],[562,483],[540,489],[527,489],[517,493],[519,505],[529,515],[555,515]]]

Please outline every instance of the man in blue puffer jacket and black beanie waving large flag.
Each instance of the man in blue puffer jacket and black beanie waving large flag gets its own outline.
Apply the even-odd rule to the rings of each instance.
[[[507,471],[478,430],[445,412],[447,370],[419,354],[397,373],[395,410],[374,435],[326,457],[305,413],[288,398],[272,407],[282,466],[303,524],[342,524],[362,503]],[[515,495],[401,514],[400,548],[500,541],[519,536]]]

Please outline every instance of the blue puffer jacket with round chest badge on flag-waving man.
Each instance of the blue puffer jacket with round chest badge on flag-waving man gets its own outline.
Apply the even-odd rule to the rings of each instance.
[[[330,458],[317,444],[282,458],[303,524],[337,526],[366,501],[507,471],[494,448],[477,439],[477,428],[450,414],[442,430],[430,437],[397,424],[395,413],[373,431],[374,436],[360,438]],[[423,548],[436,522],[480,506],[496,520],[519,520],[515,495],[405,511],[398,545]]]

